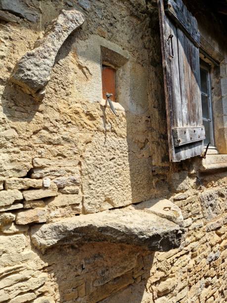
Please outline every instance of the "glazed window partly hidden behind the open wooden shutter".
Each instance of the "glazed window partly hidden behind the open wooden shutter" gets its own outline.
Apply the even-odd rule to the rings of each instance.
[[[210,81],[210,67],[207,63],[200,59],[200,86],[201,86],[201,100],[202,100],[202,120],[205,127],[206,139],[203,141],[204,145],[214,146],[213,135],[213,118],[212,118],[212,102],[211,102],[211,81]]]

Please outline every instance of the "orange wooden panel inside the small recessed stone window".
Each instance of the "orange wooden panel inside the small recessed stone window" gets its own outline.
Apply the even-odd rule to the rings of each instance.
[[[106,93],[113,94],[110,97],[116,101],[116,70],[109,66],[102,66],[102,98],[106,99]]]

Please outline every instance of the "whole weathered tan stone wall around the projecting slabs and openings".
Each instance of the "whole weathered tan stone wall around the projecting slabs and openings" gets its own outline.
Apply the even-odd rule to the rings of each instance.
[[[0,1],[0,302],[227,300],[227,173],[199,173],[200,159],[168,162],[157,5],[147,2]],[[39,101],[10,76],[74,8],[85,22]],[[118,116],[102,100],[101,57],[118,67]],[[182,209],[179,249],[68,239],[41,253],[31,243],[37,223],[157,197]]]

